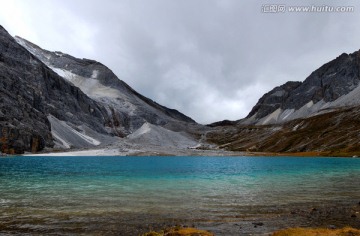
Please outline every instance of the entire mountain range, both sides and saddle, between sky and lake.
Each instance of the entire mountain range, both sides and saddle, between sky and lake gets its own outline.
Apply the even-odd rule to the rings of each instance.
[[[242,120],[209,126],[142,96],[97,61],[41,49],[2,27],[0,79],[3,153],[360,154],[360,51],[274,88]]]

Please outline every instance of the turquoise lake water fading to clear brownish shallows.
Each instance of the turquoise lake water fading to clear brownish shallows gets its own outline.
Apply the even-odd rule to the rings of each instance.
[[[0,158],[0,234],[138,235],[182,221],[216,231],[274,206],[359,199],[359,180],[355,158]]]

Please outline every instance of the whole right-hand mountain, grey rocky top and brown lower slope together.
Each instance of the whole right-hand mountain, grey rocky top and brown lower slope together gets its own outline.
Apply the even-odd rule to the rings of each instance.
[[[360,51],[344,53],[266,93],[245,119],[210,125],[206,140],[231,151],[359,155],[359,81]]]

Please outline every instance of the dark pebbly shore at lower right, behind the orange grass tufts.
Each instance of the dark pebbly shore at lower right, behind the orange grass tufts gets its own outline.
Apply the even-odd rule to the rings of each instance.
[[[254,208],[261,208],[259,206]],[[223,219],[173,219],[167,223],[148,224],[145,228],[160,231],[171,225],[196,227],[214,235],[271,235],[286,228],[360,229],[360,202],[320,202],[291,206],[264,207],[256,214],[223,216]],[[140,231],[142,232],[142,231]]]

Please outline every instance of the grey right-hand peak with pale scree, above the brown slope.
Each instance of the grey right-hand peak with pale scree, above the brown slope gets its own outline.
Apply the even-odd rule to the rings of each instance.
[[[242,124],[279,124],[360,104],[360,51],[343,53],[310,74],[260,98]]]

